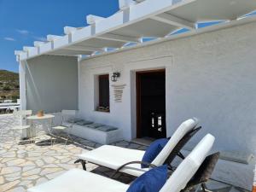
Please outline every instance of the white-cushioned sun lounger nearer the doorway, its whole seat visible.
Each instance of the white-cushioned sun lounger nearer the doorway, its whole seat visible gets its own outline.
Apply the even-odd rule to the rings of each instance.
[[[179,151],[174,150],[184,136],[190,131],[193,131],[198,124],[197,119],[188,119],[184,121],[177,131],[174,132],[165,148],[162,149],[160,154],[153,160],[152,165],[161,166],[165,163],[166,159],[175,151],[177,154]],[[195,133],[193,133],[194,135]],[[191,136],[192,137],[192,136]],[[190,136],[189,136],[190,138]],[[187,142],[187,141],[185,141]],[[183,143],[184,144],[184,143]],[[182,146],[183,147],[183,146]],[[143,154],[145,151],[129,148],[120,148],[112,145],[103,145],[100,148],[96,148],[84,154],[79,154],[79,160],[76,162],[81,162],[86,170],[85,163],[90,162],[98,166],[105,166],[113,170],[119,170],[120,167],[127,163],[131,164],[120,169],[119,172],[125,172],[135,177],[141,176],[144,172],[147,172],[149,168],[142,168],[138,161],[143,159]],[[135,163],[133,163],[136,161]]]

